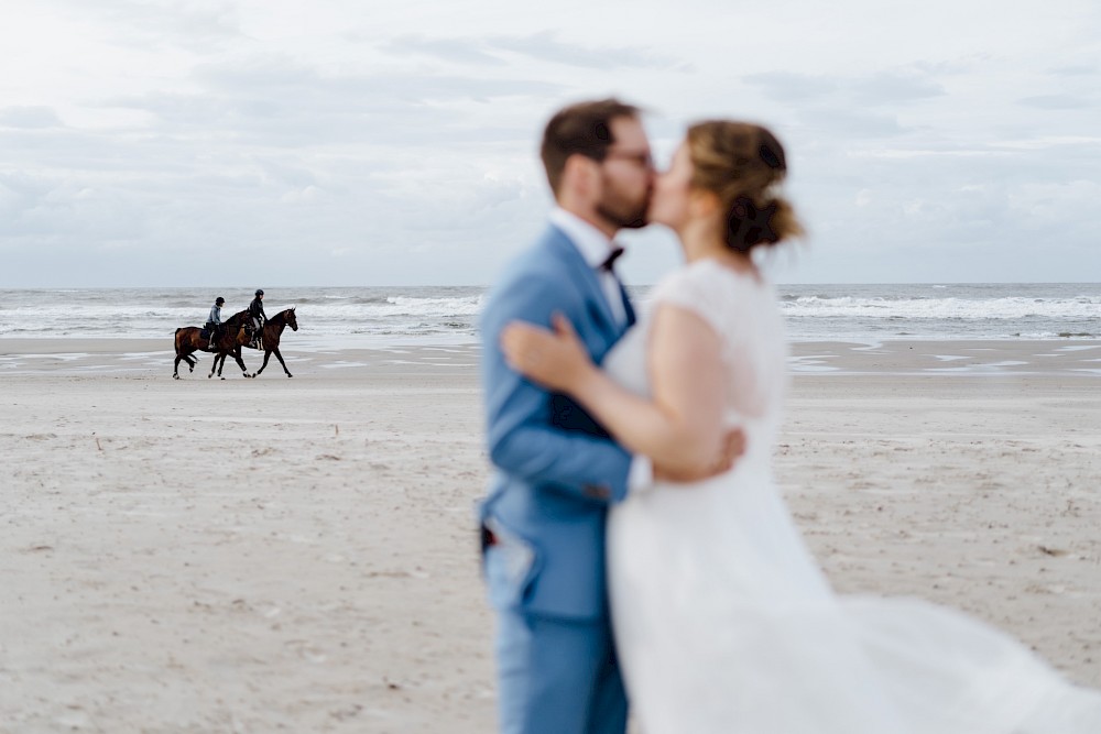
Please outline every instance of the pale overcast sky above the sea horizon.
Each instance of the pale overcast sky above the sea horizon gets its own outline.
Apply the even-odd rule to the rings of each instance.
[[[655,9],[644,9],[657,4]],[[0,287],[488,284],[547,117],[772,127],[786,283],[1101,281],[1097,0],[0,0]],[[625,280],[678,262],[630,242]]]

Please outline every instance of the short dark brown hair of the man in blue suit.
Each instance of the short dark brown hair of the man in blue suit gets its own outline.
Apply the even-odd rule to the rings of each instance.
[[[547,172],[547,182],[555,196],[562,185],[562,173],[571,155],[603,161],[612,143],[612,120],[636,118],[639,108],[618,99],[577,102],[559,110],[543,132],[539,156]]]

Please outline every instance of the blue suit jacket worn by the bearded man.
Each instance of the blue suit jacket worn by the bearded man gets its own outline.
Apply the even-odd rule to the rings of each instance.
[[[628,309],[628,321],[634,314]],[[481,377],[489,456],[497,471],[482,502],[495,536],[487,552],[499,607],[552,616],[607,614],[604,519],[626,494],[631,456],[569,397],[549,393],[504,362],[501,330],[521,319],[548,327],[566,316],[598,364],[623,336],[597,273],[555,227],[516,259],[481,319]]]

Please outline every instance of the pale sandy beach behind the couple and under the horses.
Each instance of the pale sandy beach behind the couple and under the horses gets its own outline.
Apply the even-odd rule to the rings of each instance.
[[[284,346],[175,381],[164,341],[0,339],[0,732],[493,731],[477,348]],[[792,368],[777,479],[836,587],[1101,686],[1101,342]]]

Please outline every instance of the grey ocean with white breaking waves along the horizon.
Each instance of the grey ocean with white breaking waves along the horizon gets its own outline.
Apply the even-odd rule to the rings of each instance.
[[[630,288],[645,307],[650,286]],[[482,286],[265,287],[269,316],[294,306],[299,348],[469,343]],[[794,341],[1101,338],[1101,284],[780,285]],[[2,338],[165,339],[200,326],[216,296],[224,318],[251,288],[0,289]]]

